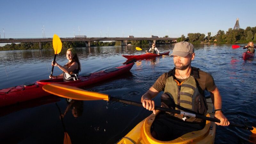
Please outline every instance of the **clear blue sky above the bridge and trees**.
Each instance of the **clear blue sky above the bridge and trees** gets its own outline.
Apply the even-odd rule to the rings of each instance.
[[[245,3],[246,2],[246,3]],[[256,26],[255,0],[1,0],[1,38],[154,36],[228,31]],[[3,32],[4,28],[4,32]],[[152,32],[151,32],[152,31]],[[168,33],[167,33],[168,31]]]

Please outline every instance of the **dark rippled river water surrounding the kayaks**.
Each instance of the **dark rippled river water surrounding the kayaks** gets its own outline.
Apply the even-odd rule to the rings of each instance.
[[[256,60],[244,61],[241,48],[231,45],[194,45],[196,57],[192,66],[212,74],[222,96],[222,109],[234,123],[256,126]],[[141,46],[149,49],[149,46]],[[160,52],[173,49],[173,45],[157,45]],[[67,62],[63,48],[57,62]],[[121,65],[126,61],[122,55],[142,54],[135,46],[112,46],[76,48],[82,70],[79,75]],[[0,52],[0,89],[26,82],[47,79],[51,73],[53,50],[26,50]],[[140,101],[144,94],[164,72],[174,67],[172,57],[157,57],[140,60],[129,73],[98,84],[85,87],[95,91]],[[60,74],[54,68],[53,75]],[[161,93],[160,93],[161,94]],[[156,102],[160,105],[159,96]],[[0,143],[19,144],[62,144],[64,130],[59,118],[59,105],[64,113],[68,103],[64,98],[48,96],[13,106],[0,108]],[[116,143],[150,112],[144,108],[117,102],[81,101],[78,104],[81,116],[75,118],[71,110],[63,118],[72,144]],[[235,127],[217,126],[215,143],[250,143],[251,132]],[[255,140],[255,139],[254,139]]]

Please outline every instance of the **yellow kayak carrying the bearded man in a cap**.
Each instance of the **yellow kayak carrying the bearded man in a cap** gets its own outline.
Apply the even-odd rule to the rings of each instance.
[[[214,118],[212,113],[213,104],[211,99],[207,99],[208,117]],[[156,115],[160,111],[156,111]],[[216,124],[211,121],[206,121],[205,127],[202,130],[189,132],[181,137],[171,141],[156,140],[151,136],[150,127],[155,120],[154,114],[148,116],[139,124],[137,124],[128,134],[126,134],[117,144],[187,144],[187,143],[200,143],[200,144],[213,144],[215,139]]]

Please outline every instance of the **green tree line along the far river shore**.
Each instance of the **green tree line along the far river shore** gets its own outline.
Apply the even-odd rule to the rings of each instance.
[[[164,36],[169,37],[169,36]],[[188,33],[188,36],[185,37],[181,35],[177,42],[187,41],[192,44],[200,43],[248,43],[249,41],[256,41],[256,27],[247,27],[246,29],[232,29],[229,28],[226,33],[223,30],[219,30],[215,36],[211,36],[211,32],[208,32],[207,35],[201,33]],[[131,40],[128,41],[128,44],[131,45],[148,45],[148,40]],[[170,44],[169,41],[156,41],[156,44]],[[102,41],[93,41],[91,42],[91,47],[94,46],[120,46],[120,41],[112,42],[102,42]],[[74,47],[85,47],[84,42],[63,42],[62,47],[65,48],[74,48]],[[41,43],[42,49],[52,49],[52,42]],[[0,46],[0,51],[10,51],[10,50],[36,50],[39,49],[39,43],[19,43],[19,44],[5,44]]]

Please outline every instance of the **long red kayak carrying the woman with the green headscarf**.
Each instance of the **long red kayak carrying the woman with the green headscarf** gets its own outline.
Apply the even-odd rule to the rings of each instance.
[[[103,71],[79,76],[79,79],[76,81],[64,82],[62,78],[45,79],[39,80],[35,83],[23,84],[15,87],[2,89],[0,90],[0,107],[50,95],[50,93],[45,92],[42,89],[45,84],[58,83],[75,87],[84,87],[115,77],[124,72],[128,72],[133,65],[134,62],[116,68],[109,68]]]

